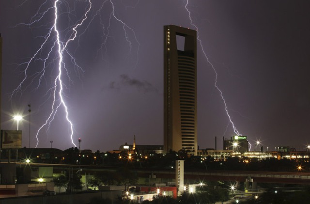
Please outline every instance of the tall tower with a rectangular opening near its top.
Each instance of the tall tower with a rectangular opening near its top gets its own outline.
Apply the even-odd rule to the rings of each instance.
[[[164,26],[164,151],[197,155],[197,55],[194,30]]]

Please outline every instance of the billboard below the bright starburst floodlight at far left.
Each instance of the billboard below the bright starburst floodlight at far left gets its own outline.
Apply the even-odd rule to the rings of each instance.
[[[1,148],[16,149],[21,148],[21,130],[1,130]]]

